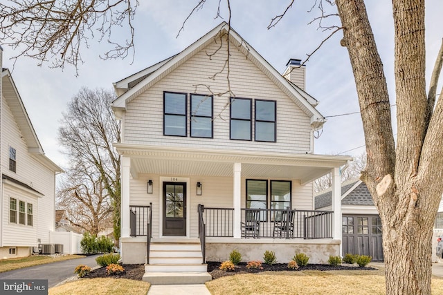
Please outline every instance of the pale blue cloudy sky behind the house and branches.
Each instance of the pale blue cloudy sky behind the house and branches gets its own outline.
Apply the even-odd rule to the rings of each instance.
[[[318,9],[311,10],[314,1],[295,1],[287,15],[271,29],[266,29],[271,19],[280,15],[291,1],[231,0],[231,26],[279,73],[283,73],[291,58],[305,60],[325,39],[330,31],[318,28],[318,23],[308,24],[319,16]],[[226,1],[221,1],[221,19],[217,15],[217,0],[206,0],[204,7],[188,19],[184,30],[177,34],[197,0],[141,1],[134,19],[135,50],[126,59],[103,60],[109,44],[92,39],[89,48],[82,48],[84,64],[75,68],[49,68],[50,63],[37,66],[35,59],[20,58],[15,66],[9,59],[12,48],[3,47],[3,67],[12,70],[12,77],[33,123],[37,137],[46,156],[56,164],[69,164],[61,153],[57,131],[69,101],[80,88],[113,89],[118,82],[156,62],[175,55],[199,37],[228,20]],[[251,4],[253,3],[253,4]],[[391,104],[395,104],[394,85],[394,28],[391,1],[366,1],[368,17],[377,41],[390,92]],[[336,8],[325,6],[328,12]],[[311,12],[309,12],[311,10]],[[435,57],[443,37],[442,0],[426,1],[426,82],[431,77]],[[327,23],[340,26],[338,17]],[[124,28],[114,30],[113,37],[124,41],[128,33]],[[306,91],[320,104],[318,111],[327,122],[314,141],[316,154],[361,155],[364,152],[364,135],[354,76],[347,50],[340,46],[342,32],[331,37],[306,64]],[[437,92],[442,89],[442,83]],[[395,106],[392,106],[393,128]],[[348,113],[355,113],[343,115]],[[337,116],[336,115],[342,115]],[[332,116],[332,117],[329,117]],[[396,134],[397,132],[394,131]]]

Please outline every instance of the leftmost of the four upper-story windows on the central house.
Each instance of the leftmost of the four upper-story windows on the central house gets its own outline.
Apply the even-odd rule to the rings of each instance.
[[[163,134],[187,136],[186,93],[163,93]]]

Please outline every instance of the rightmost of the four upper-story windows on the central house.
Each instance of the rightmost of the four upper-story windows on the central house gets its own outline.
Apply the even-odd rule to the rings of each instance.
[[[271,100],[255,99],[255,141],[275,142],[275,104]]]

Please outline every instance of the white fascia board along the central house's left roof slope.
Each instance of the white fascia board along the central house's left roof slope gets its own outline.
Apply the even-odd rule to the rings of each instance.
[[[147,85],[150,84],[150,82],[154,81],[159,76],[163,75],[163,73],[167,72],[168,70],[172,69],[175,64],[177,64],[179,61],[183,60],[184,58],[188,57],[188,55],[192,54],[197,48],[200,46],[206,44],[206,42],[210,41],[213,37],[215,37],[221,30],[224,29],[224,26],[228,26],[226,22],[220,23],[219,26],[213,28],[210,32],[208,32],[206,35],[195,41],[193,44],[188,46],[185,50],[181,51],[178,55],[175,55],[171,59],[167,60],[164,64],[162,64],[154,73],[143,79],[141,82],[139,82],[137,85],[135,85],[133,88],[129,89],[126,93],[118,97],[114,102],[112,103],[112,106],[116,108],[126,108],[126,103],[130,102],[134,97],[138,95],[138,93],[145,90]],[[226,29],[226,28],[225,28]]]

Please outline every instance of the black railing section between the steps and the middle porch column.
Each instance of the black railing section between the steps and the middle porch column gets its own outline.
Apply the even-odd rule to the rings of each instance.
[[[203,205],[202,205],[203,206]],[[233,237],[234,209],[205,207],[202,212],[208,237]]]

